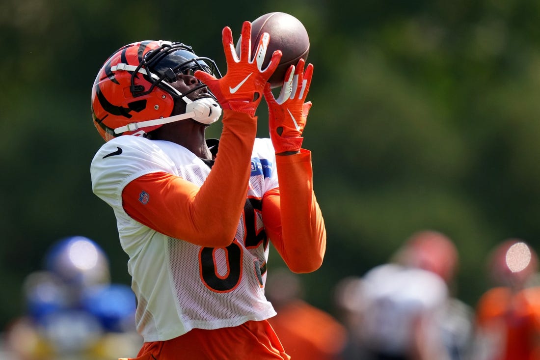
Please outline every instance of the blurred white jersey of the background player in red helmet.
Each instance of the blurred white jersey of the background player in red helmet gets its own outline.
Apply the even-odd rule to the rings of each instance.
[[[448,296],[446,283],[437,275],[396,264],[376,266],[363,277],[362,286],[363,339],[368,348],[389,355],[407,354],[415,319],[435,316]]]

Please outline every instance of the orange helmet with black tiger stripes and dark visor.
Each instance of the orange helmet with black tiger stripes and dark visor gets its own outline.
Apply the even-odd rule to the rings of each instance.
[[[197,70],[221,77],[212,59],[198,57],[181,43],[144,41],[120,48],[99,70],[92,88],[92,117],[99,134],[109,141],[120,135],[144,135],[171,122],[159,119],[170,118],[179,99],[190,104],[197,99],[187,95],[206,88],[200,83],[182,94],[171,83],[178,74],[193,75]],[[210,124],[217,121],[221,108],[210,91],[203,98],[205,103],[211,98],[213,105],[212,118],[202,121]]]

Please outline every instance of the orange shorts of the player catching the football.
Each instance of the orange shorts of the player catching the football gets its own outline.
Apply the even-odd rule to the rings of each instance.
[[[268,321],[234,328],[193,329],[167,341],[144,343],[127,360],[290,360]]]

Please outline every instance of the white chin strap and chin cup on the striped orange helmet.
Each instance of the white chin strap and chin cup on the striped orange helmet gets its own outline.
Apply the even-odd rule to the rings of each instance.
[[[148,126],[163,125],[185,119],[193,119],[199,123],[210,125],[218,121],[221,116],[221,106],[213,98],[204,97],[195,101],[191,101],[187,97],[182,99],[186,102],[185,114],[127,124],[114,129],[114,134],[122,134],[125,131],[136,131]]]

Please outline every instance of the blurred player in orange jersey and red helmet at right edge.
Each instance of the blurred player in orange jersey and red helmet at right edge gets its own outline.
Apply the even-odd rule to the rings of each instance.
[[[540,288],[536,252],[521,239],[492,250],[488,275],[494,288],[476,306],[475,360],[540,359]]]

